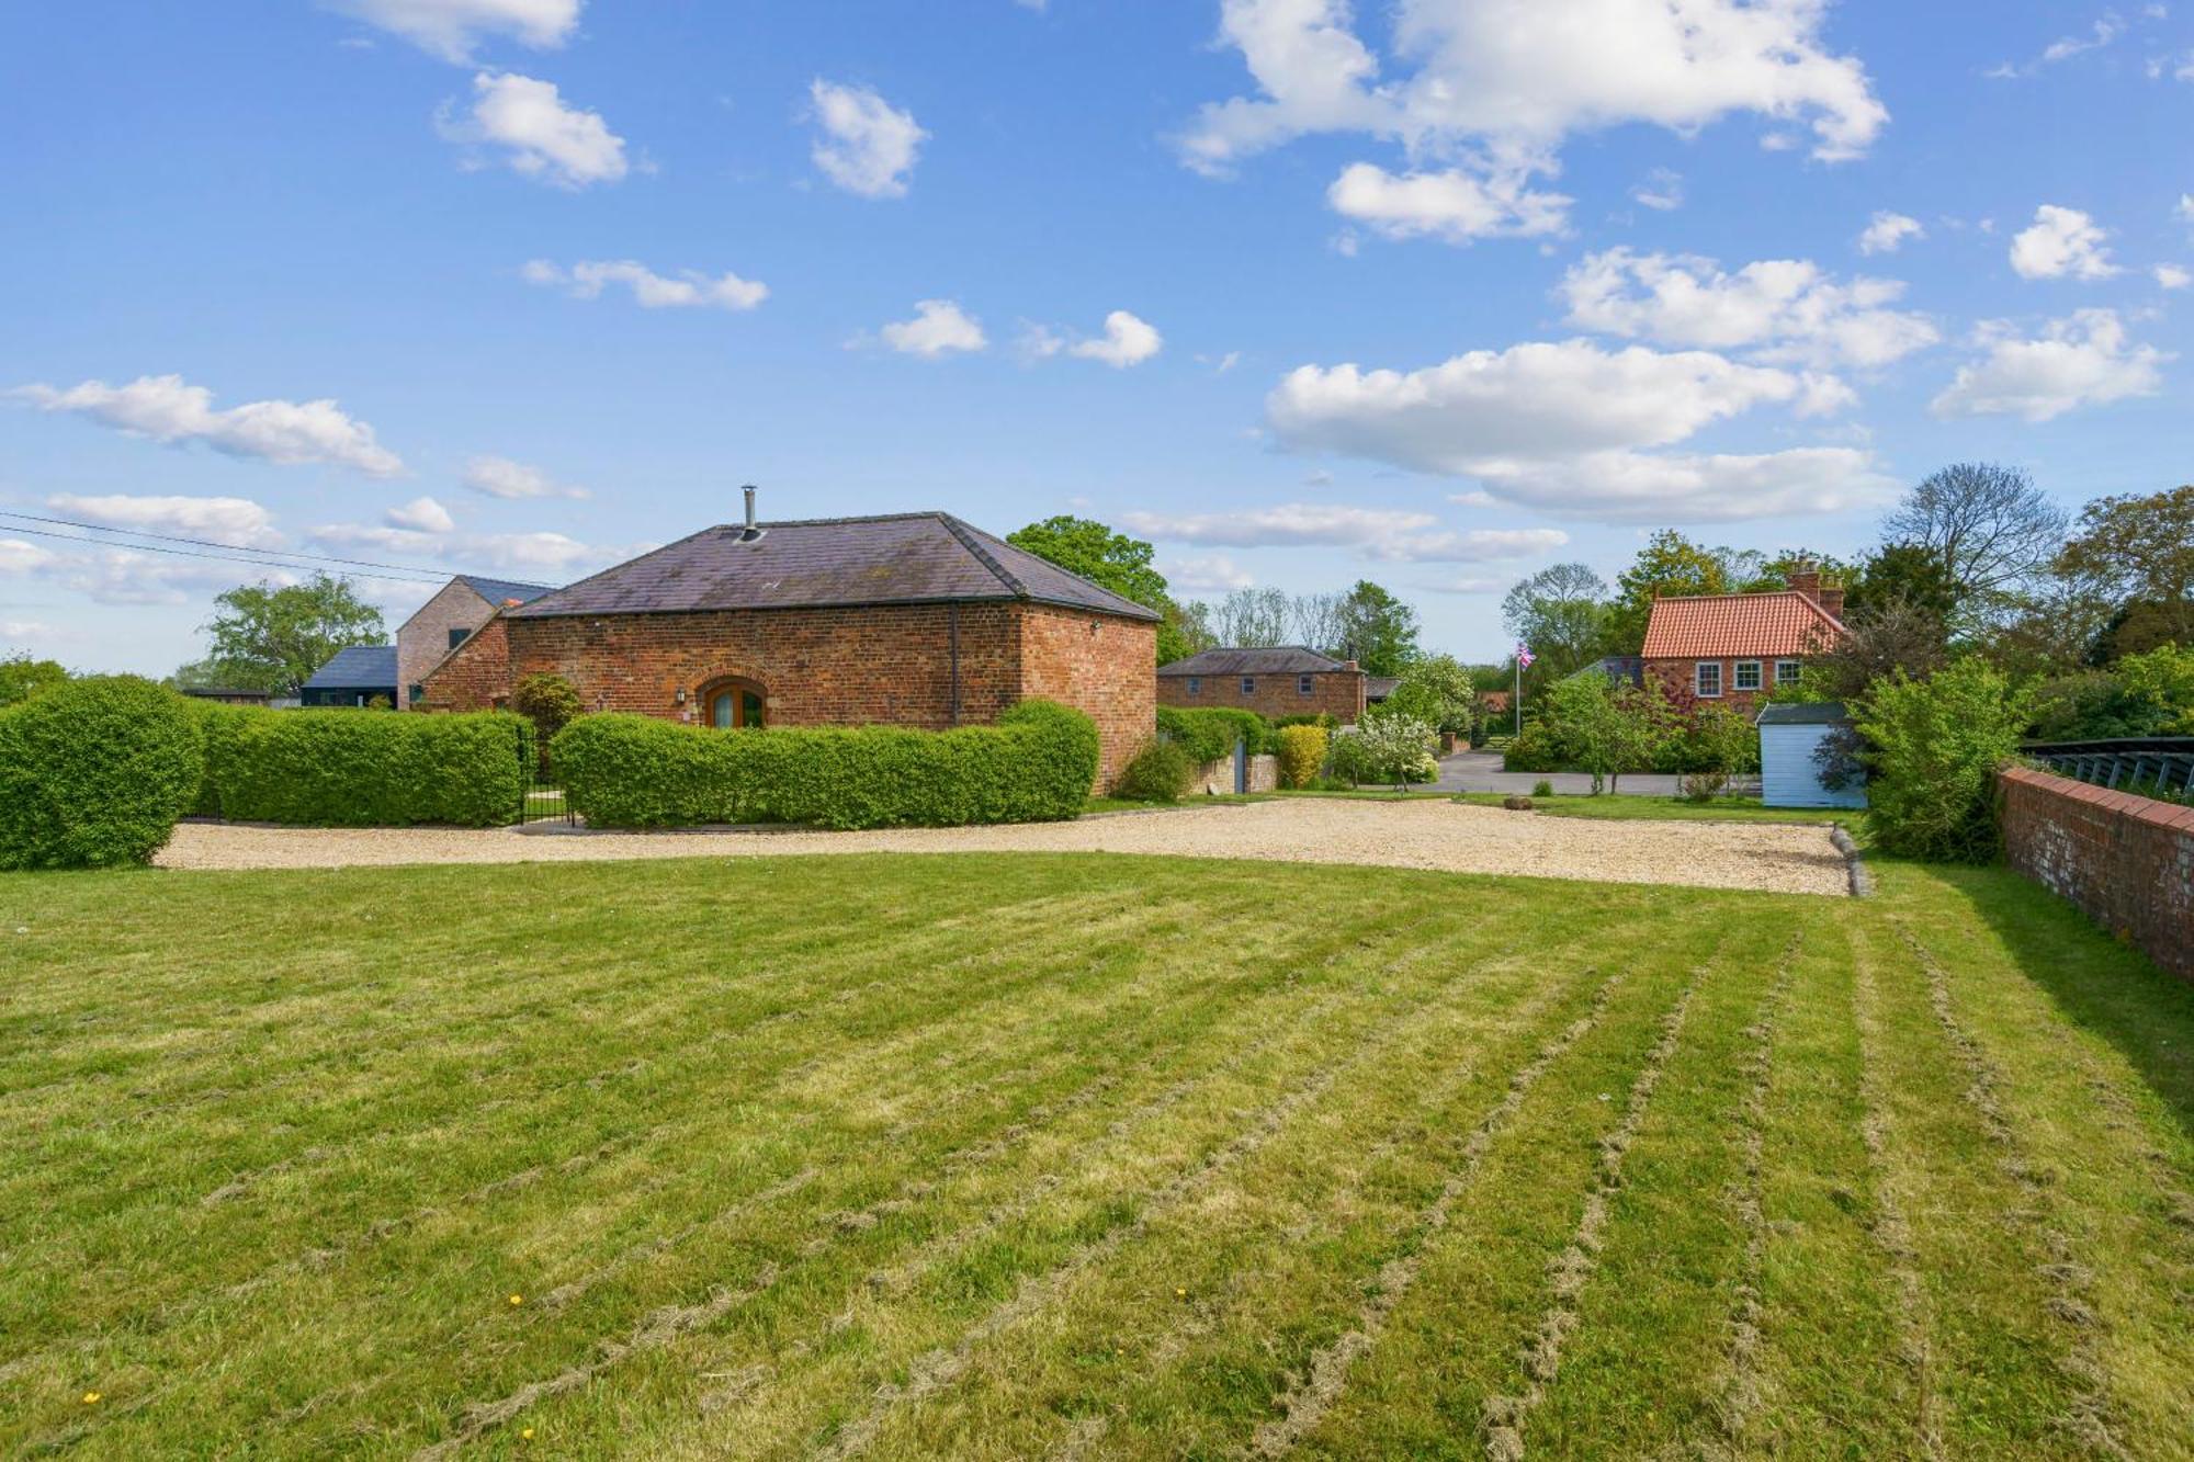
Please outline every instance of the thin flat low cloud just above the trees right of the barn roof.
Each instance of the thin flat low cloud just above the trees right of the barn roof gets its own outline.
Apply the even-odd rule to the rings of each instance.
[[[1481,564],[1549,553],[1569,542],[1560,529],[1433,531],[1433,514],[1391,507],[1281,503],[1218,514],[1121,514],[1130,531],[1220,549],[1325,547],[1409,564]],[[1224,560],[1222,560],[1224,562]]]

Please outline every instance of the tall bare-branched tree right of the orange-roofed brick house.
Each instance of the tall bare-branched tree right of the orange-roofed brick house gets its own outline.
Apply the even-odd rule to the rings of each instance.
[[[2018,468],[1961,461],[1907,492],[1882,533],[1942,562],[1950,628],[1972,632],[2016,612],[2065,544],[2065,509]]]

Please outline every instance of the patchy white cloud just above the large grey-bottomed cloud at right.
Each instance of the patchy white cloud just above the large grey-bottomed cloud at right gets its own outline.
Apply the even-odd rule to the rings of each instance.
[[[1569,323],[1698,349],[1753,349],[1766,362],[1882,367],[1935,345],[1926,316],[1887,310],[1893,279],[1836,283],[1808,259],[1762,259],[1724,274],[1711,259],[1586,255],[1562,277]]]

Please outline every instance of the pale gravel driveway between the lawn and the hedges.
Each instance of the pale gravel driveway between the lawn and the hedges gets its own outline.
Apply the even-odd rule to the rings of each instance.
[[[886,832],[601,832],[456,828],[263,828],[182,823],[160,867],[355,867],[564,863],[840,852],[1121,852],[1281,863],[1371,863],[1459,874],[1681,882],[1775,893],[1845,893],[1828,828],[1775,823],[1602,823],[1448,801],[1283,799],[1128,812],[1009,828]]]

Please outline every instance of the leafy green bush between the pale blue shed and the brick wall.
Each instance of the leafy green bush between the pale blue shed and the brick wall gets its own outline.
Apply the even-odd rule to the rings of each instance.
[[[1926,681],[1876,681],[1858,713],[1871,746],[1867,825],[1893,854],[1986,863],[1999,834],[1992,777],[2018,751],[2025,705],[1981,661]]]

